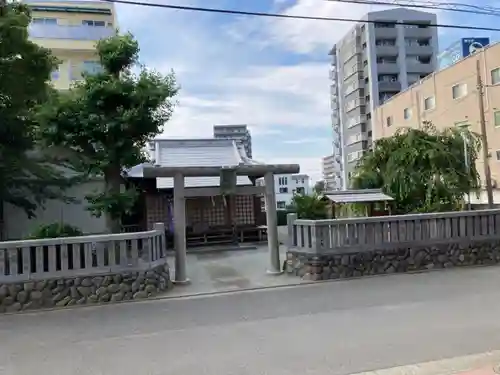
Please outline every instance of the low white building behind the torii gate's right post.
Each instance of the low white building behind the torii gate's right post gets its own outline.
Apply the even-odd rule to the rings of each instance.
[[[257,180],[257,185],[263,186],[264,179]],[[294,194],[311,194],[311,178],[306,174],[277,174],[274,176],[276,208],[284,210],[292,203]],[[265,210],[264,199],[262,209]]]

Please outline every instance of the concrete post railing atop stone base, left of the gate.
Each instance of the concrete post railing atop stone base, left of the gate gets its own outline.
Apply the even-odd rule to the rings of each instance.
[[[145,271],[166,264],[165,228],[0,242],[0,283]]]

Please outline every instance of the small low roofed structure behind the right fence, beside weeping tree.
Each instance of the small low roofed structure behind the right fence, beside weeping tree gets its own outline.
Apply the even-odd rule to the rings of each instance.
[[[360,189],[360,190],[339,190],[325,192],[324,197],[332,202],[331,215],[337,217],[336,205],[363,203],[365,205],[366,216],[386,216],[390,215],[390,207],[387,202],[394,198],[384,194],[380,189]],[[385,203],[383,209],[377,207],[379,203]]]

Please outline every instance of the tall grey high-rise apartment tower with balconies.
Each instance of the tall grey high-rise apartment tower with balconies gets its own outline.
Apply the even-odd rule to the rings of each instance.
[[[375,23],[360,22],[330,52],[333,151],[342,164],[343,188],[371,148],[375,108],[437,67],[437,29],[430,26],[435,14],[395,8],[363,20]]]

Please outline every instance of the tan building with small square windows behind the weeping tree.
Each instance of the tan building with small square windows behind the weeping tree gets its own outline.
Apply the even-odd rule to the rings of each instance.
[[[389,137],[400,127],[418,127],[424,121],[431,121],[441,129],[458,126],[480,133],[477,61],[485,86],[482,100],[492,182],[496,187],[500,182],[500,44],[476,51],[426,77],[377,108],[372,120],[374,140]],[[477,168],[484,186],[482,160],[477,161]],[[495,202],[498,203],[500,194],[497,194]],[[486,198],[482,194],[477,203],[485,202]]]

